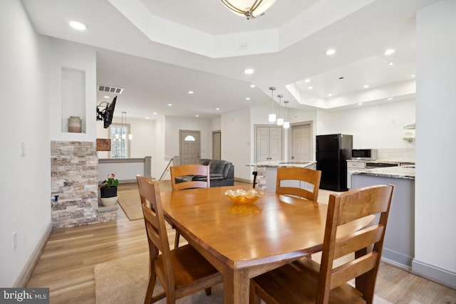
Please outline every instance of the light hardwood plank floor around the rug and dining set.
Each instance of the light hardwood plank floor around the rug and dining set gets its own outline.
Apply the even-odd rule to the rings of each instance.
[[[120,185],[119,193],[136,187]],[[170,189],[169,181],[160,182],[160,191]],[[318,201],[328,201],[328,195],[321,190]],[[95,303],[94,266],[143,252],[144,221],[129,221],[119,208],[115,222],[54,230],[26,287],[50,288],[51,303]],[[391,303],[456,304],[456,290],[385,263],[375,294]]]

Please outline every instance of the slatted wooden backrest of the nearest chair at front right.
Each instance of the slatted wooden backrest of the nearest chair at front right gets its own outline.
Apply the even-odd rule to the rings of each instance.
[[[393,185],[380,185],[330,194],[318,277],[317,303],[327,303],[330,290],[353,278],[357,278],[356,289],[361,291],[368,303],[372,303],[393,188]],[[378,224],[336,237],[337,229],[341,225],[375,214],[379,216]],[[349,253],[355,253],[353,261],[333,268],[333,261],[336,258]]]

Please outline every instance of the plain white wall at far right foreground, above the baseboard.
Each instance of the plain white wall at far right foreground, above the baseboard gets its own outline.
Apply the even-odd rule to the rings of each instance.
[[[456,1],[442,0],[417,14],[413,271],[446,271],[456,287],[455,12]]]

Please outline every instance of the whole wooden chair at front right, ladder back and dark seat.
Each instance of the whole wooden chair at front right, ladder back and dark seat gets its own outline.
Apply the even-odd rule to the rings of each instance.
[[[250,303],[373,303],[393,185],[356,189],[329,196],[321,263],[311,258],[252,278]],[[378,214],[378,222],[337,234],[338,227]],[[353,254],[354,253],[354,254]],[[336,258],[351,261],[333,268]],[[344,258],[345,259],[345,258]],[[356,286],[347,282],[356,278]]]

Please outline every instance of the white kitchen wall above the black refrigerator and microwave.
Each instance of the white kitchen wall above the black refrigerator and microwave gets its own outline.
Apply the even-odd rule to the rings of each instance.
[[[405,125],[415,122],[415,100],[361,106],[321,113],[317,135],[351,134],[353,148],[413,148],[415,142],[403,140]]]

